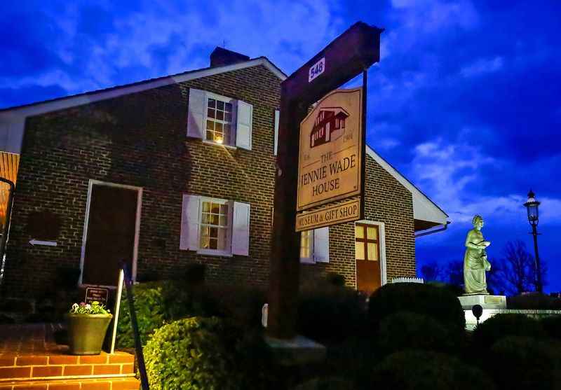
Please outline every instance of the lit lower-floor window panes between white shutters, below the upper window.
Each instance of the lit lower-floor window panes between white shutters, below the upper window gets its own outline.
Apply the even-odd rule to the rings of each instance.
[[[228,204],[203,200],[201,207],[201,249],[229,250]]]

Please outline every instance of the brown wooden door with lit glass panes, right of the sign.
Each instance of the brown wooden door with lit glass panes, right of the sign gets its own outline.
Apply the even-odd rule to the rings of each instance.
[[[355,225],[356,288],[372,293],[381,286],[380,240],[377,225]]]

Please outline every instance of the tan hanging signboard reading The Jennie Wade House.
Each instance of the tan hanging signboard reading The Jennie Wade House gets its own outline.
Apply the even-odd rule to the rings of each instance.
[[[297,210],[360,195],[363,89],[327,94],[300,123]]]

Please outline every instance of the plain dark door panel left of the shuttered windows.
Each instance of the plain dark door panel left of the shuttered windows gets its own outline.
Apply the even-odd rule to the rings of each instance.
[[[93,184],[82,284],[116,286],[119,263],[132,272],[138,190]]]

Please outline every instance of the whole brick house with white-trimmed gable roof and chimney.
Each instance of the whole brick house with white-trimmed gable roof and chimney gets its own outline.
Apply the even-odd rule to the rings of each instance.
[[[217,48],[206,69],[0,111],[0,176],[16,182],[4,296],[42,295],[64,268],[112,286],[123,259],[138,280],[203,263],[209,281],[266,286],[285,77]],[[447,218],[371,148],[365,216],[302,233],[304,282],[414,277],[415,232]]]

